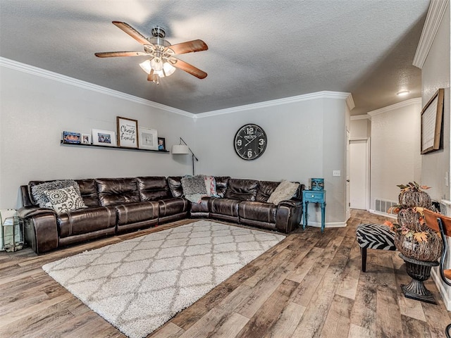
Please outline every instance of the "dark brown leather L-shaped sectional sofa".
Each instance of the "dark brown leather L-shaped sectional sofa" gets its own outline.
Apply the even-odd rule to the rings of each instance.
[[[75,180],[87,208],[57,214],[39,208],[31,181],[20,187],[25,241],[36,253],[92,239],[140,230],[183,218],[213,218],[280,232],[298,227],[302,215],[300,184],[290,201],[266,203],[280,182],[215,177],[223,198],[203,197],[199,204],[183,198],[182,177],[130,177]]]

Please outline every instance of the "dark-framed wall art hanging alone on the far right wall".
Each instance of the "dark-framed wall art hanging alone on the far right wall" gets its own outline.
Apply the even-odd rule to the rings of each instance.
[[[442,147],[444,94],[443,88],[438,89],[421,111],[421,154]]]

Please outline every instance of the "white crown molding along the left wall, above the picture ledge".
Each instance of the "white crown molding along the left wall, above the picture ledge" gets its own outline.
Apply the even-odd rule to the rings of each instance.
[[[99,86],[97,84],[92,84],[92,83],[85,82],[85,81],[82,81],[82,80],[74,79],[73,77],[69,77],[69,76],[66,76],[66,75],[61,75],[61,74],[58,74],[58,73],[54,73],[54,72],[51,72],[50,70],[37,68],[37,67],[35,67],[33,65],[27,65],[25,63],[20,63],[18,61],[13,61],[13,60],[10,60],[8,58],[3,58],[1,56],[0,56],[0,67],[11,68],[13,70],[18,70],[18,71],[23,72],[23,73],[36,75],[36,76],[39,76],[39,77],[44,77],[46,79],[62,82],[62,83],[65,83],[65,84],[70,84],[72,86],[79,87],[79,88],[82,88],[82,89],[87,89],[87,90],[90,90],[92,92],[98,92],[98,93],[101,93],[101,94],[105,94],[105,95],[116,97],[118,99],[124,99],[124,100],[127,100],[127,101],[131,101],[131,102],[134,102],[135,104],[142,104],[144,106],[149,106],[149,107],[152,107],[152,108],[161,109],[162,111],[168,111],[168,112],[171,112],[171,113],[184,115],[184,116],[187,116],[189,118],[193,118],[194,117],[194,114],[188,113],[187,111],[182,111],[181,109],[177,109],[177,108],[173,108],[173,107],[170,107],[170,106],[166,106],[164,104],[159,104],[159,103],[156,103],[154,101],[149,101],[149,100],[146,100],[146,99],[142,99],[140,97],[133,96],[133,95],[130,95],[130,94],[125,94],[123,92],[118,92],[117,90],[114,90],[114,89],[101,87],[101,86]]]

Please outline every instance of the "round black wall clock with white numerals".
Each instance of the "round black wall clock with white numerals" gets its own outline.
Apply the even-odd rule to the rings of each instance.
[[[265,131],[258,125],[243,125],[235,134],[233,145],[240,158],[244,160],[254,160],[259,158],[266,149]]]

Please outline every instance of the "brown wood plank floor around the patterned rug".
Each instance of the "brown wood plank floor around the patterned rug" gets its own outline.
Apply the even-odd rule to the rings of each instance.
[[[355,229],[385,218],[352,211],[347,227],[297,230],[176,315],[154,338],[445,337],[451,313],[404,298],[397,252],[369,250],[361,271]],[[190,223],[184,220],[37,256],[0,253],[0,337],[125,337],[42,270],[50,261]]]

